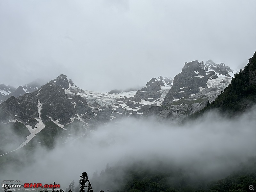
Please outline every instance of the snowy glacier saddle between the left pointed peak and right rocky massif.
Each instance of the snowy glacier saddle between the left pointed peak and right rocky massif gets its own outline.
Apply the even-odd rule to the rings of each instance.
[[[65,90],[69,99],[81,96],[92,108],[94,114],[90,121],[108,121],[121,116],[143,116],[152,105],[160,106],[172,86],[172,78],[152,78],[138,91],[119,94],[84,91],[75,85]],[[76,106],[76,103],[73,103]],[[90,122],[89,122],[90,124]]]

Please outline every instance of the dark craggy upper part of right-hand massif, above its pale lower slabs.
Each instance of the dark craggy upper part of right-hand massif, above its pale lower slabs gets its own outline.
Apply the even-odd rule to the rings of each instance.
[[[186,62],[181,73],[174,77],[173,86],[164,98],[163,105],[194,96],[204,88],[217,83],[212,79],[221,79],[222,83],[228,82],[231,80],[226,79],[231,77],[229,72],[233,73],[230,67],[224,63],[216,64],[212,60],[207,60],[205,63],[203,61],[199,63],[198,60]]]

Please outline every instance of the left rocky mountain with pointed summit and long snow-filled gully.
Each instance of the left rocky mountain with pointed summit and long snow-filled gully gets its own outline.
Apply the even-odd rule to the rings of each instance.
[[[2,127],[4,125],[15,126],[15,124],[19,123],[19,129],[22,132],[21,138],[23,138],[23,142],[14,143],[12,150],[19,149],[28,142],[52,147],[56,137],[63,138],[62,142],[64,143],[68,137],[72,137],[70,134],[71,126],[69,126],[71,123],[80,122],[80,126],[76,126],[76,132],[81,131],[81,134],[84,134],[87,125],[80,115],[84,113],[84,109],[87,111],[92,110],[86,101],[79,97],[73,99],[76,101],[77,106],[74,106],[69,100],[70,98],[68,98],[64,90],[74,85],[70,83],[65,75],[60,75],[35,92],[26,93],[18,98],[11,96],[0,104]],[[79,102],[83,101],[84,105],[79,105]],[[5,134],[1,134],[5,132],[4,129],[0,129],[1,138],[6,137]],[[15,132],[9,134],[15,135]],[[50,136],[50,140],[45,138],[46,135]],[[2,144],[2,146],[5,146],[8,143]]]

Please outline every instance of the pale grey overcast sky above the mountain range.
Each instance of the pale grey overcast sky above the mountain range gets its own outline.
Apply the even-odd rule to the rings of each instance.
[[[185,62],[244,68],[255,0],[0,1],[0,84],[61,73],[107,92],[174,77]]]

